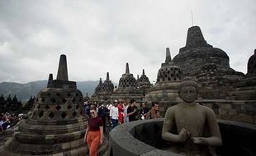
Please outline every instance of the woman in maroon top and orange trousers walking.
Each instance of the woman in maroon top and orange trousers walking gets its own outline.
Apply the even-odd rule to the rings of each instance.
[[[88,144],[89,155],[97,156],[97,147],[103,143],[103,122],[101,117],[97,117],[96,108],[90,108],[90,118],[84,135],[84,142]]]

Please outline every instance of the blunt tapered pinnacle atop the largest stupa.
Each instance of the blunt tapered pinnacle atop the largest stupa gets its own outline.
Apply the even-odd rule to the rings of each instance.
[[[212,47],[210,44],[207,44],[204,39],[201,29],[199,26],[192,26],[187,30],[187,43],[186,47]]]

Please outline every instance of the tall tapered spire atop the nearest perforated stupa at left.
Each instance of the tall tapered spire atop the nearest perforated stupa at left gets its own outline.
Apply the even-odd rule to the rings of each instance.
[[[57,74],[57,80],[69,81],[67,58],[64,54],[60,55],[59,57],[59,69]]]

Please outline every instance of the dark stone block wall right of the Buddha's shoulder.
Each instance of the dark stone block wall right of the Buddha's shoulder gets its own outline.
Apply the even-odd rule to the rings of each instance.
[[[198,100],[198,103],[212,108],[218,119],[256,124],[256,100]]]

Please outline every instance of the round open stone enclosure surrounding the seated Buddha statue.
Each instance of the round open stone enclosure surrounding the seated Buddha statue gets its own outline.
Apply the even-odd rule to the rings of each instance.
[[[161,138],[164,119],[136,121],[116,126],[110,132],[110,156],[170,156],[180,155],[162,150],[167,143]],[[256,155],[256,126],[241,122],[219,120],[223,145],[216,149],[220,155]]]

